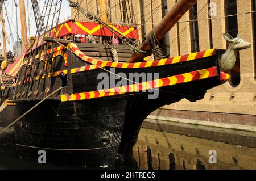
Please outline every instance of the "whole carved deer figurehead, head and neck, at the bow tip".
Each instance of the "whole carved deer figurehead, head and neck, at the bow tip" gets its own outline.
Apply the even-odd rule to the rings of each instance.
[[[228,73],[236,64],[237,52],[250,48],[251,44],[241,39],[238,35],[236,38],[233,38],[228,33],[223,33],[223,36],[230,44],[226,52],[221,56],[221,71]]]

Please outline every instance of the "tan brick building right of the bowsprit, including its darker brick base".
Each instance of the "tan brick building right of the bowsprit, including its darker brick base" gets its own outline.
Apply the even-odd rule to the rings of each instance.
[[[203,100],[195,103],[181,100],[181,102],[171,104],[170,106],[164,106],[163,110],[158,110],[155,113],[159,115],[162,112],[163,116],[172,115],[172,117],[185,119],[193,117],[193,119],[203,121],[256,126],[256,12],[251,12],[255,11],[255,1],[211,0],[210,2],[216,5],[216,15],[212,16],[210,20],[208,19],[210,18],[209,8],[204,7],[207,2],[207,0],[197,1],[197,12],[201,10],[198,14],[197,22],[199,50],[209,48],[226,49],[227,44],[226,40],[222,37],[223,32],[229,32],[233,36],[236,36],[238,33],[243,40],[249,41],[252,47],[240,52],[234,68],[236,70],[232,70],[232,81],[209,90]],[[231,13],[229,9],[231,9]],[[238,15],[223,18],[232,14]],[[189,12],[181,21],[188,20]],[[177,30],[180,32],[184,24],[187,25],[187,22],[180,22],[178,24],[179,28],[173,28],[174,30],[170,32],[170,37],[176,37]],[[176,46],[170,47],[171,56],[178,54],[177,49],[179,47],[177,44],[180,44],[181,54],[191,53],[192,41],[189,42],[189,40],[193,40],[195,37],[191,37],[193,34],[189,33],[188,30],[181,33],[180,40],[175,40]]]

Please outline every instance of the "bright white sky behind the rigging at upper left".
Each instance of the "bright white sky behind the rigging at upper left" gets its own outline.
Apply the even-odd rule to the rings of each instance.
[[[26,6],[26,18],[27,18],[27,35],[28,37],[30,36],[35,36],[36,33],[36,24],[35,24],[35,19],[34,19],[34,13],[32,10],[32,5],[31,5],[31,0],[24,0],[25,1],[25,6]],[[44,6],[44,2],[46,0],[38,0],[39,7],[42,10]],[[56,2],[56,0],[54,0]],[[18,35],[21,37],[21,30],[20,30],[20,15],[19,15],[19,0],[16,0],[18,3]],[[13,37],[14,41],[17,41],[17,36],[16,36],[16,7],[14,6],[14,0],[7,0],[5,1],[5,6],[7,9],[7,15],[9,16],[9,21],[11,24],[11,30],[13,32]],[[4,13],[4,19],[5,19],[5,29],[7,31],[7,34],[10,39],[10,31],[9,31],[9,26],[6,18],[6,11],[5,7],[3,6],[3,13]],[[60,12],[60,22],[63,22],[64,19],[67,20],[71,15],[71,10],[69,7],[69,2],[67,0],[63,0],[63,4],[61,6],[61,12]],[[28,23],[30,22],[30,23]],[[29,25],[29,26],[28,26]],[[0,42],[2,43],[2,33],[0,33]],[[11,40],[10,40],[11,41]],[[7,42],[6,42],[7,43]],[[11,43],[11,42],[10,42]],[[13,46],[12,44],[7,43],[7,52],[11,50],[13,52]]]

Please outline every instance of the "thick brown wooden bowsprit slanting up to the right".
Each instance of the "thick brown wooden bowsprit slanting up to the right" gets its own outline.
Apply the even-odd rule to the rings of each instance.
[[[195,3],[196,0],[179,0],[177,1],[176,5],[168,12],[166,16],[161,20],[158,26],[154,28],[154,34],[158,41],[163,40],[164,36],[166,36],[166,33],[171,30],[172,27],[179,21],[179,19],[189,10],[189,8],[192,7],[193,3]],[[152,35],[149,33],[146,36],[146,39],[149,39]],[[141,46],[139,46],[139,50],[148,51],[151,50],[153,47],[150,46],[150,44],[147,43],[147,41],[143,41]],[[129,60],[127,62],[137,62],[143,60],[143,58],[146,57],[145,54],[138,54],[133,53]]]

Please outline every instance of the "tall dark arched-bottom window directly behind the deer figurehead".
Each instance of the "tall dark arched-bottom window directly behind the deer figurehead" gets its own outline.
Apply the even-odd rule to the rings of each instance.
[[[238,22],[237,16],[229,16],[237,14],[237,1],[236,0],[225,0],[225,15],[228,16],[225,19],[226,23],[226,32],[233,37],[237,37],[238,34]],[[227,41],[226,47],[228,48],[229,42]],[[241,77],[240,77],[240,58],[239,53],[237,54],[236,64],[231,71],[231,78],[229,83],[236,87],[240,84]]]

